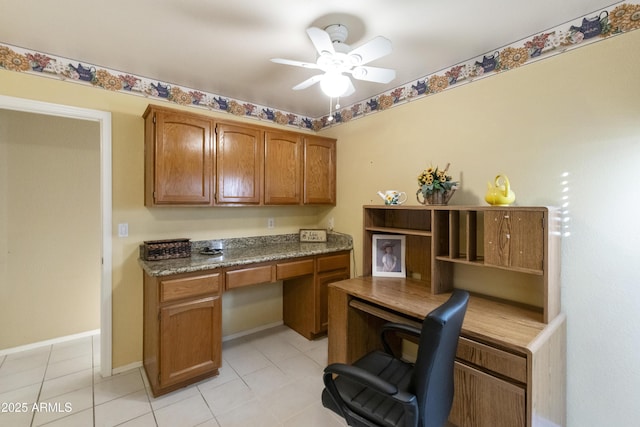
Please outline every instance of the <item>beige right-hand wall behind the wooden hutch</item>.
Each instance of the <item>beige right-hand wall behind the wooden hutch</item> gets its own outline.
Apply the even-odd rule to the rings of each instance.
[[[484,204],[497,173],[508,175],[519,205],[568,203],[569,426],[640,419],[639,76],[635,31],[323,132],[339,138],[339,193],[321,222],[333,217],[353,234],[359,272],[361,206],[380,204],[381,189],[417,204],[416,176],[430,164],[451,162],[462,181],[453,204]],[[473,287],[473,273],[460,273]],[[516,297],[536,303],[530,291]]]

